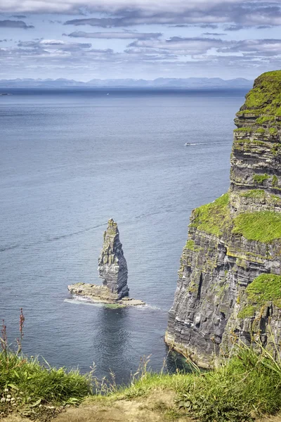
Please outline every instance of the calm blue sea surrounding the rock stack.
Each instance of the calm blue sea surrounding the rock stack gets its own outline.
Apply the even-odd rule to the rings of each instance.
[[[245,92],[12,93],[0,96],[0,318],[9,340],[22,307],[27,354],[81,371],[95,362],[96,376],[111,369],[117,382],[143,356],[161,369],[190,212],[228,189]],[[109,309],[67,292],[101,283],[110,217],[130,295],[148,307]]]

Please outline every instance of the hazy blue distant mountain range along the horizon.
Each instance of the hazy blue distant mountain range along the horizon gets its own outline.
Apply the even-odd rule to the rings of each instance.
[[[78,82],[74,79],[0,79],[0,89],[8,88],[161,88],[161,89],[249,89],[253,81],[238,77],[221,79],[219,77],[188,77],[146,79],[91,79],[89,82]]]

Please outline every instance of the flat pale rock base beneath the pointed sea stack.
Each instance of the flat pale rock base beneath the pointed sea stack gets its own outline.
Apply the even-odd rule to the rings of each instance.
[[[89,283],[75,283],[70,284],[67,288],[72,295],[88,299],[93,303],[105,303],[120,306],[145,305],[143,300],[129,298],[129,296],[118,299],[118,296],[115,293],[110,293],[110,290],[106,286],[97,286],[96,284]]]

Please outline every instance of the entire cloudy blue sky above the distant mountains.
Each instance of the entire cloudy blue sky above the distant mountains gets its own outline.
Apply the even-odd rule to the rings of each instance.
[[[0,79],[254,79],[281,68],[281,0],[0,0]]]

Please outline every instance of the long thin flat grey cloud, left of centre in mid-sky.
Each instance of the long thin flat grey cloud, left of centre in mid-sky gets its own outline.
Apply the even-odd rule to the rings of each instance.
[[[161,32],[84,32],[77,31],[63,34],[74,38],[100,38],[100,39],[155,39],[162,36]]]

